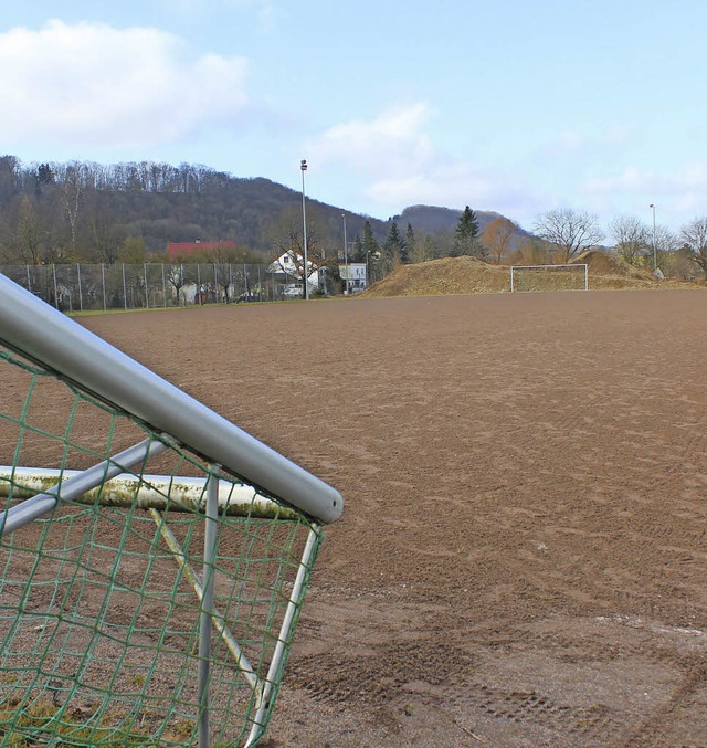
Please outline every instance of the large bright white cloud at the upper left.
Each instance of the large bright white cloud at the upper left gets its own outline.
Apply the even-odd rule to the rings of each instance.
[[[247,105],[241,57],[193,59],[148,28],[50,21],[0,34],[0,138],[13,147],[156,146],[233,123]]]

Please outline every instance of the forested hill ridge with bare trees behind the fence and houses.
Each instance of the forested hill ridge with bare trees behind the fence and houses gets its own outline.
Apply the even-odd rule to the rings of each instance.
[[[392,221],[419,238],[454,235],[461,210],[415,206],[387,221],[307,197],[307,223],[319,246],[342,246],[370,223],[383,242]],[[479,229],[495,213],[477,212]],[[0,263],[99,260],[115,262],[129,240],[148,254],[168,242],[233,240],[272,255],[288,226],[302,229],[302,192],[268,179],[244,179],[200,165],[94,162],[24,165],[0,157]],[[435,254],[446,254],[443,246]]]

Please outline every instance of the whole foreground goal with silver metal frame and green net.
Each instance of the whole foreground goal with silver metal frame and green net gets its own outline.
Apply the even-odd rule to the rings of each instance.
[[[0,275],[0,745],[254,746],[339,493]]]

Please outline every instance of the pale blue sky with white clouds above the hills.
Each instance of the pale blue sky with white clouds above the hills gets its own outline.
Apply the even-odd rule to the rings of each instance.
[[[699,0],[33,0],[0,15],[0,151],[201,164],[388,219],[707,214]],[[651,208],[653,204],[655,208]]]

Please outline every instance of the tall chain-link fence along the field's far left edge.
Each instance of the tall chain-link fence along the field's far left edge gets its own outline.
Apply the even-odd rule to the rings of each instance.
[[[267,265],[6,265],[0,272],[62,312],[272,302],[287,282]]]

